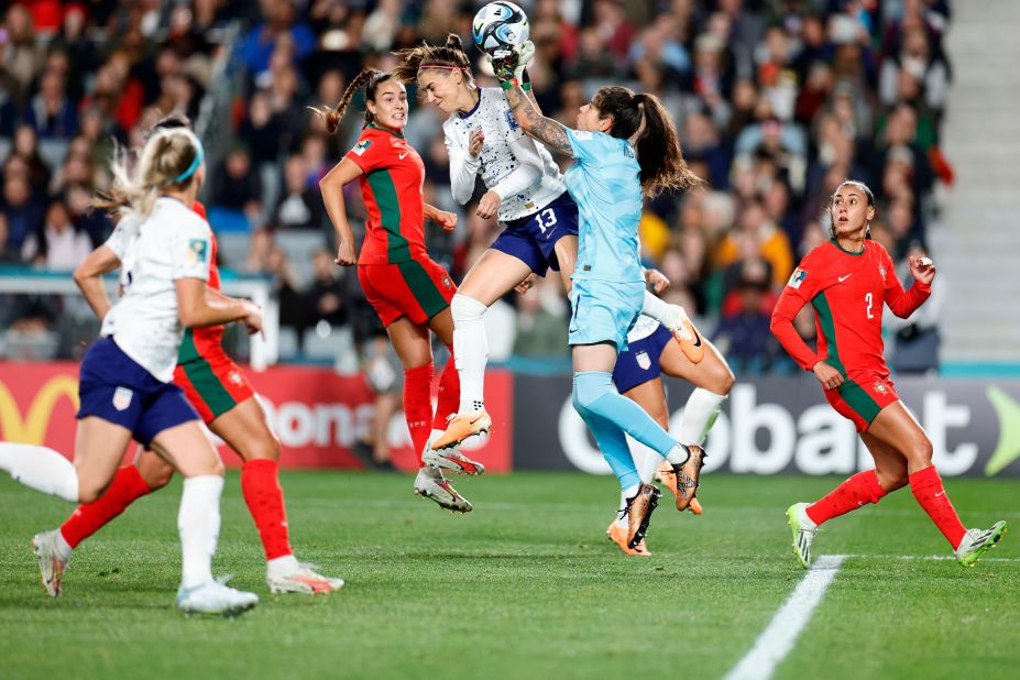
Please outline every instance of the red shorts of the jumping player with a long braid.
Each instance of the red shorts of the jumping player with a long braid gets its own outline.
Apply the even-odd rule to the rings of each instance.
[[[449,307],[457,293],[447,271],[429,259],[359,264],[358,281],[383,326],[401,317],[425,323]]]

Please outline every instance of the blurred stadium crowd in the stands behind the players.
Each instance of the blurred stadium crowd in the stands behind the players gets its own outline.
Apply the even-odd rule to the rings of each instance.
[[[796,262],[829,238],[823,206],[845,177],[875,189],[871,234],[895,261],[925,248],[935,185],[953,179],[940,153],[952,74],[946,0],[517,3],[530,19],[529,76],[547,114],[570,125],[578,107],[612,83],[656,94],[673,117],[704,185],[647,202],[643,254],[672,281],[665,297],[700,320],[737,372],[796,371],[769,317]],[[307,351],[334,329],[376,347],[369,340],[382,329],[357,276],[332,264],[317,187],[357,139],[360,117],[329,136],[308,107],[336,103],[364,66],[392,66],[393,50],[450,32],[470,45],[481,4],[10,3],[0,32],[0,264],[73,270],[112,228],[89,210],[89,197],[110,180],[114,145],[138,145],[162,114],[182,112],[200,133],[227,132],[210,154],[202,199],[222,265],[273,277],[293,339],[285,346]],[[494,85],[475,64],[478,81]],[[227,106],[209,106],[217,98]],[[208,111],[222,120],[202,121]],[[452,234],[427,226],[432,257],[459,279],[498,226],[475,215],[482,190],[467,206],[453,200],[441,123],[438,109],[415,105],[406,136],[426,163],[426,200],[460,216]],[[347,200],[363,219],[353,183]],[[54,353],[74,354],[87,308],[72,298],[0,296],[6,337],[55,333]],[[893,370],[936,364],[933,303],[907,322],[890,320]],[[489,317],[494,359],[566,357],[567,305],[556,277]],[[814,336],[810,311],[797,325]]]

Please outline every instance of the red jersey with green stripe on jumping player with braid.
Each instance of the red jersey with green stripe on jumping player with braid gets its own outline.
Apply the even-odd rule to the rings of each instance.
[[[404,136],[369,125],[344,156],[364,171],[358,178],[369,211],[358,264],[428,257],[425,251],[425,164]]]

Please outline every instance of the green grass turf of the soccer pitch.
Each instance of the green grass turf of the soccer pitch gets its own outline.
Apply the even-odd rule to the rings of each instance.
[[[650,559],[604,538],[615,481],[515,473],[458,480],[451,515],[403,475],[285,473],[299,559],[348,585],[271,596],[235,473],[217,573],[262,603],[238,619],[185,619],[179,485],[143,498],[76,552],[48,600],[29,539],[69,506],[0,480],[0,677],[717,678],[803,577],[787,506],[837,480],[709,476],[705,514],[662,498]],[[947,556],[909,490],[834,520],[815,555],[849,553],[777,678],[1014,678],[1020,668],[1020,481],[950,480],[967,526],[1012,523],[973,569]],[[999,561],[1009,558],[1008,561]]]

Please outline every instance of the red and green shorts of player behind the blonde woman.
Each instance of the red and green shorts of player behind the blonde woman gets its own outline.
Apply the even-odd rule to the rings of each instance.
[[[207,425],[255,395],[241,368],[219,344],[206,347],[196,359],[178,363],[174,384],[184,390]]]

